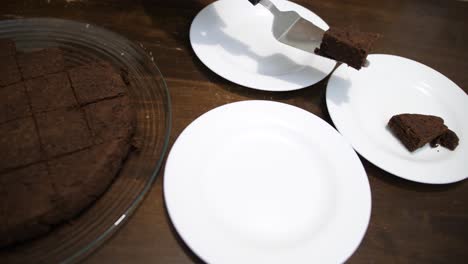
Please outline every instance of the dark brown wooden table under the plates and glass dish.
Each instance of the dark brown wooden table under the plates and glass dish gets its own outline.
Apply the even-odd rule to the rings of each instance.
[[[239,0],[240,1],[240,0]],[[331,123],[326,80],[293,92],[239,87],[207,69],[193,53],[192,19],[211,0],[3,0],[0,18],[48,16],[93,23],[143,43],[166,77],[173,103],[171,144],[204,112],[246,99],[304,108]],[[383,34],[376,52],[408,57],[468,91],[468,2],[455,0],[296,0],[331,25]],[[468,114],[468,113],[467,113]],[[468,119],[467,119],[468,120]],[[468,122],[468,121],[467,121]],[[466,140],[466,139],[465,139]],[[466,263],[468,182],[408,182],[362,158],[372,188],[367,234],[349,263]],[[467,157],[468,162],[468,157]],[[176,234],[162,196],[163,173],[131,220],[85,263],[199,263]]]

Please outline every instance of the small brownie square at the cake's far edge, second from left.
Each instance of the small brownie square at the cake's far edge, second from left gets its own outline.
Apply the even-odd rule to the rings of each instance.
[[[18,54],[18,66],[24,79],[40,77],[65,70],[63,52],[58,48],[47,48],[35,52]]]

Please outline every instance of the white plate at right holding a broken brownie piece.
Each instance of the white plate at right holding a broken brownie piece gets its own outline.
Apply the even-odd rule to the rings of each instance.
[[[338,130],[376,166],[431,184],[468,177],[468,96],[441,73],[410,59],[370,55],[371,66],[340,66],[327,88],[327,106]],[[393,115],[440,116],[460,138],[455,151],[428,145],[411,153],[388,130]]]

